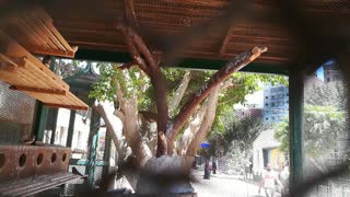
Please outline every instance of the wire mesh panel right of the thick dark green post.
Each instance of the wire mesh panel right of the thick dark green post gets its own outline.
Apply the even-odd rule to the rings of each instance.
[[[349,160],[346,78],[335,60],[307,76],[304,89],[304,177],[328,173]],[[349,172],[314,186],[308,196],[350,196]]]

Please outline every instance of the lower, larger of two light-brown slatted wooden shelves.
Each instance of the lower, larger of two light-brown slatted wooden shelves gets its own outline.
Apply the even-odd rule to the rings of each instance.
[[[69,85],[0,28],[0,80],[49,107],[88,109]]]

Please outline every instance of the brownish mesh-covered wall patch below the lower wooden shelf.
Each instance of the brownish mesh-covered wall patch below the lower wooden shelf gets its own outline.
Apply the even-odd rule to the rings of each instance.
[[[35,100],[0,81],[0,143],[21,143],[30,139]]]

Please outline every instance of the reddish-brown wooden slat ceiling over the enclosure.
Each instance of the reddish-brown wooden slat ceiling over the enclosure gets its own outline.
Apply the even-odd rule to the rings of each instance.
[[[298,9],[283,8],[279,2],[253,0],[244,7],[237,0],[51,0],[42,3],[67,42],[79,46],[77,56],[83,58],[89,58],[80,56],[84,51],[104,51],[112,56],[128,53],[124,37],[114,28],[114,23],[124,18],[153,51],[162,53],[184,33],[210,23],[207,31],[198,32],[198,38],[195,36],[191,44],[179,51],[183,58],[228,60],[254,46],[267,46],[269,50],[257,61],[287,68],[304,48],[301,34],[318,31],[325,39],[338,40],[335,31],[347,28],[350,21],[349,0],[285,1]],[[230,23],[212,21],[228,14],[225,11],[237,12]],[[294,15],[285,16],[289,12]],[[347,30],[346,36],[349,34]]]

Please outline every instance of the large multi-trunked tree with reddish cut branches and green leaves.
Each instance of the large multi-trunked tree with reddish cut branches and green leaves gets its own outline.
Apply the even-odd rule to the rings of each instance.
[[[97,104],[96,109],[104,118],[108,134],[114,139],[116,147],[119,147],[122,136],[140,167],[151,166],[156,172],[170,172],[170,169],[172,169],[172,173],[176,173],[177,170],[183,171],[186,169],[184,165],[188,165],[187,160],[174,158],[178,162],[170,162],[167,166],[164,164],[167,159],[162,155],[173,155],[174,144],[179,134],[185,134],[184,127],[186,125],[194,124],[188,124],[188,120],[191,121],[198,117],[200,125],[192,134],[195,140],[188,140],[190,142],[186,147],[190,148],[185,151],[187,155],[196,153],[201,140],[206,138],[215,120],[220,92],[229,88],[233,91],[237,90],[238,94],[240,91],[254,91],[254,86],[240,88],[245,85],[244,82],[236,84],[241,80],[240,77],[237,80],[235,78],[228,79],[232,77],[232,73],[259,57],[267,48],[254,47],[242,53],[211,77],[202,74],[194,78],[195,80],[202,78],[205,81],[190,85],[190,78],[196,73],[189,71],[171,73],[174,70],[162,69],[160,57],[150,51],[136,32],[124,24],[117,24],[116,28],[125,36],[132,61],[120,67],[104,65],[102,69],[105,74],[91,95],[101,101],[106,99],[116,101],[117,109],[114,115],[122,121],[122,134],[116,134],[114,130],[113,115],[108,114],[107,107],[103,103]],[[182,78],[174,78],[176,74]],[[173,80],[174,83],[166,83],[165,78]],[[176,82],[178,85],[174,85]],[[172,91],[167,91],[167,84],[171,84]],[[195,89],[196,85],[197,91],[188,93],[189,86]],[[144,94],[152,95],[151,100],[144,99]],[[235,97],[232,92],[231,95],[233,95],[232,99]],[[154,125],[156,128],[152,130]],[[156,146],[150,146],[154,142]],[[156,158],[162,157],[163,159],[151,160],[153,153]],[[156,164],[150,164],[151,161]]]

